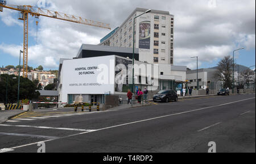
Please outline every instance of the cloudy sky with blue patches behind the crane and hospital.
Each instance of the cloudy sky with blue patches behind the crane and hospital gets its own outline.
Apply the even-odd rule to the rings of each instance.
[[[169,11],[175,16],[174,64],[195,69],[216,66],[236,52],[237,64],[255,65],[255,0],[40,0],[46,8],[120,26],[136,7]],[[71,3],[72,2],[72,3]],[[9,5],[40,5],[38,0],[9,0]],[[39,7],[42,7],[39,6]],[[43,6],[44,7],[44,6]],[[0,12],[0,65],[18,65],[23,49],[23,23],[18,11]],[[36,20],[38,44],[36,44]],[[98,44],[110,31],[62,20],[29,18],[28,65],[57,69],[60,58],[75,57],[81,44]]]

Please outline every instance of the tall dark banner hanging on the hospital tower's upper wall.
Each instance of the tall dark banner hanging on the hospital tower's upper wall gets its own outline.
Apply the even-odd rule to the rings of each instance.
[[[150,21],[139,23],[139,48],[150,49]]]

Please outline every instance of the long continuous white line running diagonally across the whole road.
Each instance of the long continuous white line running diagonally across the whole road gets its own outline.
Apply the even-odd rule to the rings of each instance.
[[[250,100],[250,99],[255,99],[255,97],[254,97],[254,98],[243,99],[243,100],[238,100],[238,101],[236,101],[236,102],[230,102],[230,103],[220,104],[220,105],[217,105],[217,106],[210,106],[210,107],[200,108],[200,109],[196,109],[196,110],[185,111],[185,112],[180,112],[180,113],[174,113],[174,114],[171,114],[171,115],[164,115],[164,116],[154,117],[154,118],[151,118],[151,119],[135,121],[135,122],[132,122],[132,123],[114,125],[114,126],[112,126],[112,127],[106,127],[106,128],[101,128],[101,129],[97,129],[97,130],[88,131],[88,132],[82,132],[82,133],[72,134],[72,135],[65,136],[65,137],[59,137],[59,138],[56,138],[56,139],[50,139],[50,140],[45,140],[45,141],[34,142],[34,143],[31,143],[31,144],[15,146],[15,147],[13,147],[13,148],[8,148],[8,149],[22,148],[22,147],[24,147],[24,146],[35,145],[35,144],[38,144],[38,143],[40,143],[40,142],[48,142],[48,141],[53,141],[53,140],[57,140],[57,139],[62,139],[62,138],[68,138],[68,137],[78,136],[78,135],[85,134],[85,133],[91,133],[91,132],[97,132],[97,131],[101,131],[101,130],[105,130],[105,129],[115,128],[115,127],[121,127],[121,126],[123,126],[123,125],[129,125],[129,124],[134,124],[134,123],[140,123],[140,122],[143,122],[143,121],[155,120],[155,119],[160,119],[160,118],[168,117],[168,116],[181,115],[181,114],[183,114],[183,113],[195,112],[195,111],[205,110],[205,109],[213,108],[213,107],[225,106],[225,105],[227,105],[227,104],[242,102],[242,101]],[[6,148],[4,148],[4,149],[6,149]],[[0,151],[1,151],[1,150],[2,150],[2,149],[0,149]]]

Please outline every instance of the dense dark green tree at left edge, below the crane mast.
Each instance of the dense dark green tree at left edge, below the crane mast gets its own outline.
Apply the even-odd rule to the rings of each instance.
[[[15,75],[0,75],[0,102],[6,103],[6,85],[7,85],[7,103],[16,103],[18,95],[18,77]],[[15,79],[13,79],[16,77]],[[8,78],[8,83],[7,83]],[[20,77],[19,98],[20,99],[37,99],[40,95],[36,92],[35,84],[28,78]]]

